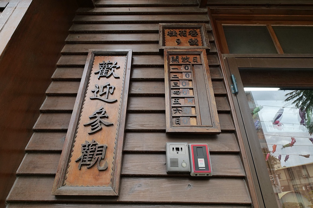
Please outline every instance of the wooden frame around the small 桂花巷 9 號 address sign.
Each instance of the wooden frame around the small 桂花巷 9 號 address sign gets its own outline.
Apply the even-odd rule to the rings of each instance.
[[[199,29],[202,46],[165,46],[166,29]],[[206,49],[210,50],[205,23],[159,23],[159,49]]]

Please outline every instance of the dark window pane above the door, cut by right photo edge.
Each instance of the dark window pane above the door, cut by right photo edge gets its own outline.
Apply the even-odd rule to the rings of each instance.
[[[273,26],[284,53],[313,53],[313,27]]]

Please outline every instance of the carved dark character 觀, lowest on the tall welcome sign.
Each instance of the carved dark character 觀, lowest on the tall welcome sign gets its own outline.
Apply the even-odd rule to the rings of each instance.
[[[99,145],[94,139],[89,142],[85,141],[85,144],[81,144],[81,156],[75,160],[80,161],[78,169],[81,165],[88,165],[87,168],[93,166],[97,161],[97,168],[99,171],[104,171],[108,168],[108,162],[105,161],[103,167],[100,166],[100,160],[105,158],[106,145]]]

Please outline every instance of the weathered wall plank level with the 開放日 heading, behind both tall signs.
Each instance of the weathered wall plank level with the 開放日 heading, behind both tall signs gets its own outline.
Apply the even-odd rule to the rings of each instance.
[[[209,67],[219,67],[216,55],[207,55]],[[164,67],[164,56],[158,55],[134,55],[132,67]],[[58,67],[84,67],[86,55],[62,55],[57,63]]]

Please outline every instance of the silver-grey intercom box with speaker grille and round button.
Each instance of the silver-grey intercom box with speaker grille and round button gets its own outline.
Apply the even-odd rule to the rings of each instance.
[[[190,172],[187,142],[166,143],[166,171]]]

